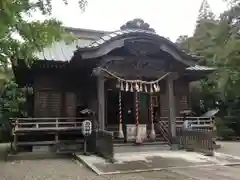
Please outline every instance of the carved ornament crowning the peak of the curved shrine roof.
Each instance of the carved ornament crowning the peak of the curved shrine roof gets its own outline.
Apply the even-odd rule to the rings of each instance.
[[[144,22],[142,19],[133,19],[131,21],[128,21],[126,24],[122,25],[120,27],[121,30],[125,29],[141,29],[145,31],[151,31],[155,32],[153,28],[150,28],[150,25],[146,22]]]

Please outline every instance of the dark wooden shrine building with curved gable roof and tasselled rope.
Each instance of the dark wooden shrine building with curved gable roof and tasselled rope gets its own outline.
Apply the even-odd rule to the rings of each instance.
[[[15,67],[17,83],[33,88],[28,118],[73,121],[91,109],[95,128],[127,141],[165,137],[160,121],[175,137],[181,111],[191,110],[190,82],[214,70],[141,20],[114,32],[66,30],[79,37],[73,44],[56,42],[31,67]]]

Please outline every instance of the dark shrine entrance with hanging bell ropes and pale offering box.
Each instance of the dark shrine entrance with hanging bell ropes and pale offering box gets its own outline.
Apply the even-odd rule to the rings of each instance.
[[[154,100],[160,95],[160,87],[158,84],[154,86],[155,88],[147,85],[143,87],[139,84],[139,91],[136,91],[136,87],[132,89],[131,84],[129,87],[128,89],[127,83],[119,84],[116,80],[106,80],[105,127],[114,132],[115,137],[119,137],[119,132],[121,132],[123,134],[121,138],[129,137],[129,131],[131,131],[133,132],[132,139],[134,139],[136,134],[134,131],[139,125],[144,131],[143,136],[147,138],[153,131],[153,121],[157,118],[157,112],[160,111],[159,106],[156,106],[158,100]]]

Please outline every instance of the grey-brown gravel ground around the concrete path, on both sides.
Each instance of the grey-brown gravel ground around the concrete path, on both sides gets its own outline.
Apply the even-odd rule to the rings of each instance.
[[[218,152],[240,156],[240,142],[221,142],[221,145],[223,147],[219,149]],[[3,147],[4,145],[0,144],[0,180],[195,180],[184,176],[184,174],[190,175],[191,173],[191,177],[194,178],[197,178],[196,174],[199,176],[205,174],[211,177],[208,177],[209,179],[219,180],[219,177],[214,177],[214,173],[209,174],[210,171],[203,168],[198,170],[194,169],[194,171],[190,171],[190,169],[182,169],[174,170],[174,172],[165,170],[138,174],[98,176],[87,169],[84,165],[69,157],[4,162],[1,161],[1,154],[4,149]],[[230,175],[233,177],[239,177],[239,170],[240,167],[236,166],[222,167],[220,171],[212,169],[211,172],[222,172],[228,174],[229,177],[227,179],[231,179]]]

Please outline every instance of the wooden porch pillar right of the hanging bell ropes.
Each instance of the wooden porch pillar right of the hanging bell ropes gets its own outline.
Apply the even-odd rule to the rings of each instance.
[[[170,74],[167,77],[167,88],[166,88],[166,92],[167,92],[167,98],[168,98],[168,120],[169,120],[169,132],[170,132],[170,136],[171,139],[175,139],[176,137],[176,104],[175,104],[175,97],[174,97],[174,86],[173,86],[173,82],[175,79],[175,75],[174,74]]]

